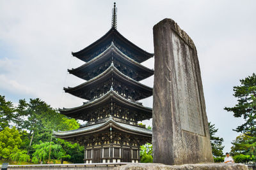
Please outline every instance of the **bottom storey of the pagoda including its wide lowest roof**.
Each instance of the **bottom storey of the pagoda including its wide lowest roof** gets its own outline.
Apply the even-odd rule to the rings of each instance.
[[[140,146],[151,143],[152,131],[109,117],[106,122],[57,132],[57,138],[84,145],[84,163],[139,162]]]

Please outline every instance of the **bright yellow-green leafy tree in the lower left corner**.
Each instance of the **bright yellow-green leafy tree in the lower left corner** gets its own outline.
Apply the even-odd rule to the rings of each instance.
[[[0,132],[0,159],[24,161],[29,160],[26,150],[20,150],[22,140],[19,131],[12,127],[5,127]]]

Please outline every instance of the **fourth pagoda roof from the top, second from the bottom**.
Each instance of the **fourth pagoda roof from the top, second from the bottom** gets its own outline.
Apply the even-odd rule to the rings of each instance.
[[[86,111],[97,109],[101,104],[108,103],[109,101],[112,101],[113,103],[119,103],[120,105],[124,106],[125,108],[129,108],[130,110],[135,110],[139,111],[140,113],[144,113],[145,118],[141,120],[152,118],[152,108],[148,108],[142,106],[141,104],[134,103],[128,99],[125,99],[124,97],[117,94],[112,88],[109,90],[108,93],[104,94],[98,99],[95,99],[92,102],[84,103],[82,106],[78,106],[76,108],[59,109],[59,111],[61,114],[66,115],[68,117],[79,118],[80,115],[86,114]]]

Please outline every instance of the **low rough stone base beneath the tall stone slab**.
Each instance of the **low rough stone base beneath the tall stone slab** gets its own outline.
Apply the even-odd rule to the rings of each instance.
[[[225,163],[207,163],[207,164],[183,164],[179,166],[166,166],[164,164],[154,163],[139,163],[139,164],[127,164],[125,166],[115,167],[115,170],[248,170],[248,167],[244,164],[225,164]]]

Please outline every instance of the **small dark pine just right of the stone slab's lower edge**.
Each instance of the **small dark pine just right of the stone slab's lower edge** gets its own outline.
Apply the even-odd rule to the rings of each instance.
[[[209,131],[210,131],[210,139],[211,139],[211,145],[212,145],[212,155],[214,157],[222,157],[223,156],[223,138],[215,136],[216,132],[218,132],[218,129],[216,129],[214,124],[209,124]]]

